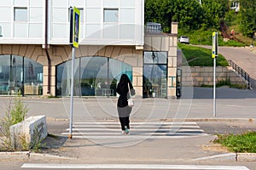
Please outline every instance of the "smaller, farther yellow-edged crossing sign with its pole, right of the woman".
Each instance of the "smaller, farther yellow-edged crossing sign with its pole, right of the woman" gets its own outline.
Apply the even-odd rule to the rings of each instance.
[[[216,58],[218,57],[218,32],[212,32],[213,59],[213,116],[216,116]]]

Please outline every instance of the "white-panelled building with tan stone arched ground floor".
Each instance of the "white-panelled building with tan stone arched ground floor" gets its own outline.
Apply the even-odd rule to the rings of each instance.
[[[176,96],[177,23],[144,31],[143,0],[0,2],[0,95],[70,94],[71,6],[80,10],[74,95],[116,96],[125,73],[138,96]]]

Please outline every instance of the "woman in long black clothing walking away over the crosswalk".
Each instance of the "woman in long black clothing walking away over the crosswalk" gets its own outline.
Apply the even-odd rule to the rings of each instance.
[[[128,101],[131,96],[129,94],[128,83],[130,86],[131,95],[135,95],[135,90],[132,87],[131,81],[126,74],[123,74],[120,78],[116,92],[119,94],[117,103],[117,110],[119,113],[119,122],[121,123],[121,129],[123,134],[128,134],[130,131],[130,114],[131,107],[128,106]]]

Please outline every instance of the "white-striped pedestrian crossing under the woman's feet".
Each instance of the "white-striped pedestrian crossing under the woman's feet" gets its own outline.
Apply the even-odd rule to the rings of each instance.
[[[180,139],[206,136],[196,122],[131,122],[129,135],[119,122],[73,122],[73,139]],[[61,133],[69,134],[69,128]]]

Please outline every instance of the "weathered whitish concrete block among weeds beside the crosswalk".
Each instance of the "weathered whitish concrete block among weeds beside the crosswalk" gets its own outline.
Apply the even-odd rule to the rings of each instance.
[[[47,132],[46,116],[31,116],[26,120],[9,127],[11,143],[14,148],[20,148],[20,137],[25,137],[27,144],[34,142],[35,135],[45,139]]]

